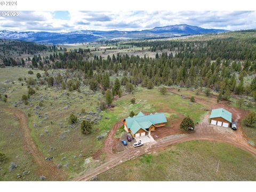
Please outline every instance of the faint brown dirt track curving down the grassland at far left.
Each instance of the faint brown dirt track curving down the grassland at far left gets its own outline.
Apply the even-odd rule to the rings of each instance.
[[[26,145],[25,149],[34,157],[34,161],[38,166],[38,172],[40,175],[44,175],[46,180],[65,180],[67,179],[67,174],[64,171],[57,169],[57,166],[52,161],[45,161],[44,156],[38,150],[33,139],[30,137],[30,130],[28,127],[28,118],[27,115],[19,110],[14,108],[5,108],[4,110],[11,112],[18,117],[20,121],[20,131],[24,135]]]

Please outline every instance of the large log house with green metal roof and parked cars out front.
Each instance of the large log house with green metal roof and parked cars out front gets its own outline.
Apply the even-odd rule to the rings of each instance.
[[[166,125],[164,113],[145,115],[140,112],[137,116],[124,119],[124,130],[131,132],[133,137],[140,137]]]

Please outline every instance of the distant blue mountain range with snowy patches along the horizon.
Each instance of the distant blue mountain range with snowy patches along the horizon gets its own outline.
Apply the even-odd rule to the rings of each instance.
[[[206,34],[206,33],[222,33],[228,30],[223,29],[204,29],[186,24],[172,25],[164,27],[155,27],[153,29],[141,31],[99,31],[99,30],[78,30],[68,33],[52,33],[44,31],[8,31],[1,30],[0,38],[2,39],[17,39],[22,41],[45,43],[45,44],[70,44],[70,43],[85,43],[101,40],[115,39],[147,39],[159,37],[175,37],[181,35]]]

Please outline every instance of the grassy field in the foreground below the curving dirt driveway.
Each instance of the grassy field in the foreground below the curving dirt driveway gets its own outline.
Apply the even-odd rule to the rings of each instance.
[[[218,168],[219,164],[219,168]],[[255,181],[256,157],[209,141],[189,141],[142,155],[98,175],[101,181]]]

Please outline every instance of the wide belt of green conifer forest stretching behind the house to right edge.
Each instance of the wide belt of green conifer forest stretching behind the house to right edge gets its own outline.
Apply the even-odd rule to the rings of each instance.
[[[254,34],[255,35],[255,34]],[[79,81],[90,84],[90,89],[106,90],[109,76],[121,76],[125,87],[137,85],[153,89],[159,85],[181,87],[207,87],[219,91],[220,98],[229,99],[231,92],[246,94],[256,99],[256,42],[250,35],[235,38],[218,38],[209,41],[154,41],[134,42],[148,50],[163,51],[155,58],[128,54],[108,55],[106,59],[95,56],[85,60],[83,49],[50,53],[48,57],[35,55],[34,68],[63,68],[80,71]],[[245,77],[250,81],[245,82]],[[51,80],[51,82],[54,81]],[[129,89],[130,89],[129,88]]]

